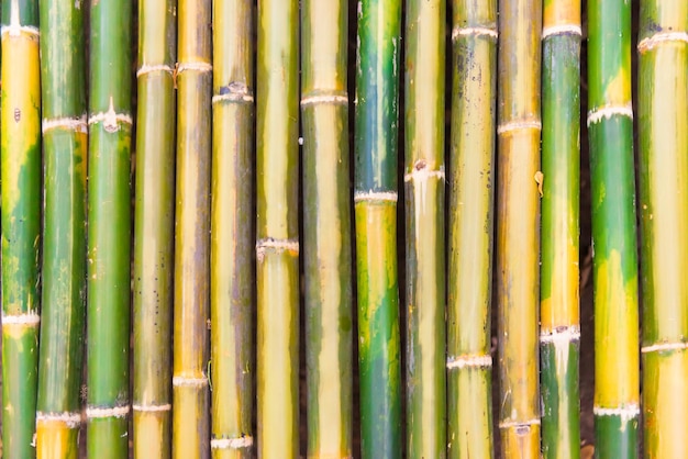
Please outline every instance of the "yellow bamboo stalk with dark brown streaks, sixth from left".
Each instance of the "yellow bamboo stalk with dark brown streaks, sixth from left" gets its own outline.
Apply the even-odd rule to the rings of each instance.
[[[210,243],[213,458],[252,458],[254,402],[253,2],[213,2]]]

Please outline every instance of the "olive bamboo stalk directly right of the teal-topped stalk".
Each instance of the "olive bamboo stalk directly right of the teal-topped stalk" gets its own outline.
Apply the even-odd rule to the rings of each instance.
[[[444,0],[406,2],[407,456],[446,457]]]

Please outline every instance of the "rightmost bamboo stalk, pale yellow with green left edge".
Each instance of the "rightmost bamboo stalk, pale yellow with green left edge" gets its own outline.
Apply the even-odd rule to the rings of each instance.
[[[688,2],[641,1],[640,212],[646,458],[688,457]]]

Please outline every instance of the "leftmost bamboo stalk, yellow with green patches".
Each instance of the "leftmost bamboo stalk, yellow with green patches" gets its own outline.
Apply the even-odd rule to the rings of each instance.
[[[41,235],[38,2],[2,4],[2,445],[35,457]]]

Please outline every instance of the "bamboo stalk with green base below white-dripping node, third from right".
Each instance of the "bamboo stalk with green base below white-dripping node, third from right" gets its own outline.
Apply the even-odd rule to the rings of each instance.
[[[580,0],[543,11],[540,356],[544,458],[580,457]]]

